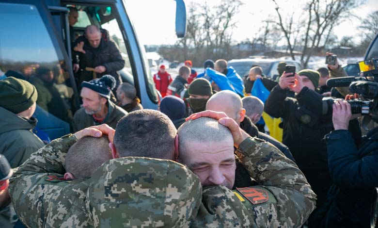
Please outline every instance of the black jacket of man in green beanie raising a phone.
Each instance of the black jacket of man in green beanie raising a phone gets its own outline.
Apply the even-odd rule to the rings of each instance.
[[[327,147],[324,135],[332,130],[329,116],[317,115],[309,110],[321,110],[322,96],[304,87],[296,98],[287,98],[286,90],[274,87],[265,103],[265,112],[283,118],[283,143],[289,147],[299,169],[304,173],[318,196],[321,205],[331,186],[328,171]]]

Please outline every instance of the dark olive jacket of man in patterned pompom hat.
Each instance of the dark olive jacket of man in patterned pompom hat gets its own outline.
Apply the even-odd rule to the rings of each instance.
[[[101,123],[94,121],[94,118],[92,115],[86,114],[84,108],[79,109],[75,113],[74,119],[72,120],[73,131],[76,132],[84,128],[88,128],[88,127],[92,127],[92,126],[96,126],[100,124],[107,124],[111,128],[115,129],[115,126],[117,126],[118,121],[122,117],[127,115],[127,112],[123,108],[115,105],[110,100],[108,100],[107,105],[108,105],[108,115],[105,117],[105,119]]]

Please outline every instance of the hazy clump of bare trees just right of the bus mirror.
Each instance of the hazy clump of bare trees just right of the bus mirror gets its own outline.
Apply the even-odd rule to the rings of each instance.
[[[240,5],[240,0],[221,0],[213,8],[206,2],[190,4],[187,35],[174,47],[181,52],[178,60],[192,59],[194,65],[202,65],[207,58],[227,58],[232,52],[232,29],[236,27],[235,15]],[[161,49],[161,54],[164,58],[178,56],[167,53],[166,49]]]

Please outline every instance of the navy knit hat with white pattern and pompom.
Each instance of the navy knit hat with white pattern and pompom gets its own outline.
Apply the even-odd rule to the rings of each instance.
[[[115,79],[111,75],[104,75],[99,79],[91,81],[83,81],[81,87],[87,87],[94,92],[97,92],[104,98],[110,99],[110,91],[115,87]]]

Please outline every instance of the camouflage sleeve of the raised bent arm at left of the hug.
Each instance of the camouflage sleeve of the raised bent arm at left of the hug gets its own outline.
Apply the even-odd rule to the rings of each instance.
[[[51,173],[64,173],[65,154],[75,142],[76,137],[71,134],[52,141],[31,154],[10,179],[9,193],[15,211],[27,226],[45,226],[50,200],[59,195],[64,185],[43,182]]]

